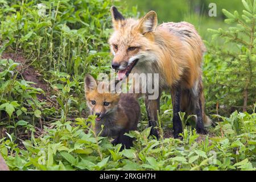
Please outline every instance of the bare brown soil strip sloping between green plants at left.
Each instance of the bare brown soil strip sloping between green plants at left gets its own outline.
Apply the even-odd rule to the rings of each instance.
[[[15,53],[3,53],[2,59],[12,59],[17,63],[20,63],[19,67],[17,68],[20,75],[24,78],[26,81],[32,81],[35,84],[32,84],[35,88],[40,88],[44,90],[44,92],[49,95],[49,87],[46,82],[42,81],[41,75],[38,71],[36,71],[29,63],[27,63],[27,60],[21,55]],[[39,100],[45,100],[46,97],[43,94],[38,94]]]

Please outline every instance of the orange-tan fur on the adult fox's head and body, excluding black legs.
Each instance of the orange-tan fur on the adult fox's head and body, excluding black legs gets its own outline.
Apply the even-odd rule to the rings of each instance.
[[[115,20],[113,17],[113,27],[109,44],[114,63],[122,65],[141,56],[131,72],[140,73],[143,69],[143,73],[145,70],[146,73],[159,73],[160,90],[173,88],[177,82],[183,89],[195,89],[197,84],[203,89],[201,63],[205,46],[192,24],[169,22],[157,27],[156,13],[150,11],[139,20]],[[129,47],[137,49],[129,51]],[[200,92],[200,98],[203,102],[203,92]],[[189,111],[190,99],[189,94],[183,92],[181,107],[188,113],[193,112]],[[205,115],[203,117],[205,123],[209,122]]]

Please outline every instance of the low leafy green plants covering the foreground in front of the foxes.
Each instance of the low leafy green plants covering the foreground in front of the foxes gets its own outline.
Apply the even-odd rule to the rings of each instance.
[[[52,123],[42,137],[24,140],[22,149],[8,135],[0,148],[12,170],[255,170],[256,114],[220,118],[212,137],[200,138],[191,127],[183,140],[164,138],[162,127],[159,140],[148,138],[150,128],[130,132],[134,147],[123,151],[90,129],[94,117]]]

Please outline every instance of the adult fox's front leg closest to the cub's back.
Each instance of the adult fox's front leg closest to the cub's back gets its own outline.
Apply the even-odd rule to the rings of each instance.
[[[147,117],[148,117],[148,127],[151,127],[150,135],[159,138],[158,131],[155,129],[158,126],[158,111],[160,110],[160,92],[158,99],[156,100],[149,100],[148,96],[145,97],[145,104],[147,109]]]

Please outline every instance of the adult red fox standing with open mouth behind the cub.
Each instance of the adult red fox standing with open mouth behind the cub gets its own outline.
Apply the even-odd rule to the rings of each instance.
[[[169,22],[157,26],[155,11],[138,20],[124,18],[114,6],[110,11],[114,27],[109,39],[112,68],[118,70],[119,79],[129,73],[158,73],[159,93],[171,90],[174,137],[183,131],[179,111],[196,114],[196,131],[206,134],[204,126],[211,120],[204,114],[201,63],[205,46],[193,25]],[[157,138],[154,126],[159,98],[160,94],[158,99],[148,100],[146,94],[145,99],[151,134]]]

